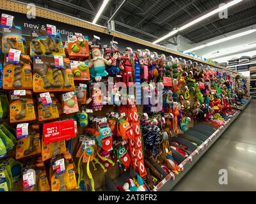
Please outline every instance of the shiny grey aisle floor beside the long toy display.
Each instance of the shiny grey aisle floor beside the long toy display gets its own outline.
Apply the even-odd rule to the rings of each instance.
[[[180,180],[173,191],[256,191],[256,100]],[[219,170],[228,171],[220,185]]]

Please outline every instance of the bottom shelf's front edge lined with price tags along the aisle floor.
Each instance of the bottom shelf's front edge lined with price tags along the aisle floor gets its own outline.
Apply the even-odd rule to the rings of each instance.
[[[236,120],[238,115],[241,113],[242,110],[250,103],[251,99],[248,99],[246,103],[241,107],[240,110],[237,110],[230,119],[228,119],[225,122],[225,126],[221,126],[220,128],[216,129],[214,133],[212,133],[211,136],[207,140],[205,140],[202,145],[200,145],[194,152],[192,152],[189,157],[187,157],[182,163],[179,165],[180,166],[180,173],[179,175],[174,175],[173,172],[168,174],[154,189],[154,191],[171,191],[173,187],[188,173],[188,171],[195,165],[195,163],[202,157],[205,152],[212,146],[216,140],[223,134],[223,132]],[[205,124],[206,123],[202,123]],[[193,128],[191,128],[193,130]]]

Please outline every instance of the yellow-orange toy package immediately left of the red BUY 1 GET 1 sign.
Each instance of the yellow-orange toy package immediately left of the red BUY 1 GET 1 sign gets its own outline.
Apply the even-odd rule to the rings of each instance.
[[[40,134],[35,130],[31,131],[27,137],[20,138],[16,146],[16,159],[40,154],[41,141]]]

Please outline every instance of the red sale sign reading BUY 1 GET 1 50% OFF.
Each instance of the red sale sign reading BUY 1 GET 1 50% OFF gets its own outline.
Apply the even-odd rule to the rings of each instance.
[[[68,140],[76,137],[74,120],[45,123],[43,126],[44,143]]]

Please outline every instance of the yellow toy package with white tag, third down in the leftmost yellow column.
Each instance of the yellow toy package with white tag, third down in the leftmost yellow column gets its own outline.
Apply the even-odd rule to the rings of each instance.
[[[31,91],[15,90],[11,92],[10,122],[35,120],[35,107]]]

